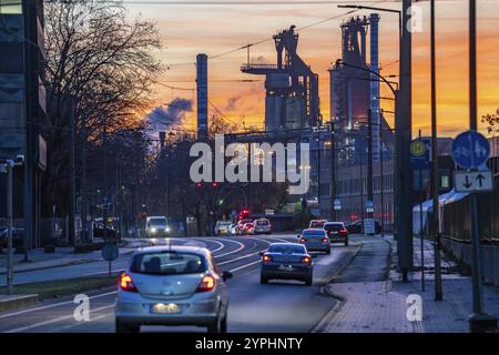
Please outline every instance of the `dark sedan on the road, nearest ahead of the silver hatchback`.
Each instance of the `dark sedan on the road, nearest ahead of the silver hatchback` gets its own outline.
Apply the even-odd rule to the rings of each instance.
[[[259,283],[269,280],[297,280],[312,285],[314,265],[307,248],[298,243],[272,243],[266,252],[261,252]]]

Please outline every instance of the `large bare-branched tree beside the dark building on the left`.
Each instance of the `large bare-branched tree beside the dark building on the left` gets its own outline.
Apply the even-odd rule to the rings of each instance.
[[[153,55],[161,43],[155,24],[129,20],[120,0],[54,0],[44,11],[50,144],[44,191],[51,194],[47,203],[63,205],[70,101],[81,146],[102,143],[104,130],[143,132],[140,119],[163,70]],[[133,139],[140,142],[144,134]]]

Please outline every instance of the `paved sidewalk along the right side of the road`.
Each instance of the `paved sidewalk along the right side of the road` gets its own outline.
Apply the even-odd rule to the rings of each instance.
[[[390,237],[360,239],[364,243],[369,243],[369,247],[360,251],[358,256],[363,256],[366,252],[367,255],[364,255],[365,260],[360,260],[360,265],[354,260],[348,268],[361,270],[370,257],[373,268],[379,270],[383,265],[379,258],[383,253],[388,253],[389,245],[394,248],[391,254],[396,255],[396,246]],[[420,245],[419,243],[420,240],[415,241],[415,246]],[[419,252],[417,256],[420,257]],[[379,280],[379,276],[377,276],[378,280],[363,278],[354,272],[347,277],[340,276],[329,283],[327,292],[342,302],[323,320],[316,332],[468,333],[468,316],[471,313],[471,280],[459,275],[450,260],[444,260],[444,301],[435,302],[432,257],[431,243],[425,241],[425,265],[428,266],[425,275],[425,292],[421,291],[420,272],[410,273],[413,282],[403,283],[399,273],[394,270],[394,263],[390,265],[390,272],[386,273],[385,280]],[[419,265],[419,262],[415,260],[415,264]],[[374,270],[370,273],[376,274]],[[486,311],[499,316],[499,288],[486,286],[483,292]],[[410,322],[407,317],[407,297],[415,294],[422,301],[422,320],[419,322]]]

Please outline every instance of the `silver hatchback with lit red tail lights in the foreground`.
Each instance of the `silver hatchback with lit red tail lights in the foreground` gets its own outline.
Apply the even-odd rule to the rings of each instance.
[[[116,333],[139,332],[141,325],[206,326],[227,331],[225,281],[211,252],[195,246],[151,246],[132,256],[120,275],[115,306]]]

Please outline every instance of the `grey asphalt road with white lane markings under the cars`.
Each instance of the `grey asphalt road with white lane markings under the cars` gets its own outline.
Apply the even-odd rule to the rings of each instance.
[[[357,245],[334,245],[330,255],[314,258],[314,283],[271,282],[259,284],[258,252],[272,242],[296,242],[295,235],[244,237],[190,237],[175,239],[174,244],[195,244],[212,250],[222,270],[234,277],[227,281],[230,294],[228,332],[309,332],[320,322],[336,301],[320,292],[322,285],[343,266],[357,250]],[[114,263],[115,270],[124,268],[128,257]],[[18,282],[70,278],[106,273],[108,264],[96,262],[67,267],[19,273]],[[0,313],[0,332],[35,333],[106,333],[114,332],[115,290],[89,292],[90,321],[78,322],[73,317],[73,297],[61,297],[35,306]],[[201,327],[142,327],[142,332],[206,332]]]

